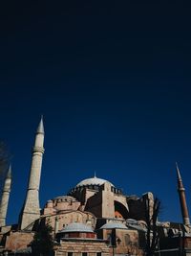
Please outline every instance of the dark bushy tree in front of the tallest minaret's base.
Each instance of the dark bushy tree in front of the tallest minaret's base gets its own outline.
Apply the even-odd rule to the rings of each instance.
[[[32,241],[33,256],[48,256],[53,254],[53,228],[50,225],[44,225],[35,233]]]

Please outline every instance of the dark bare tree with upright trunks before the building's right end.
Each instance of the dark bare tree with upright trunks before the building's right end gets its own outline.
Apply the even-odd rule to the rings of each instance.
[[[145,221],[147,224],[145,252],[146,256],[153,256],[159,243],[157,226],[160,209],[159,198],[155,198],[153,202],[151,202],[150,198],[146,198],[145,208]]]

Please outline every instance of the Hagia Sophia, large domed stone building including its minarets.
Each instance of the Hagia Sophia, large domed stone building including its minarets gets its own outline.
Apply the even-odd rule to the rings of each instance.
[[[39,204],[39,186],[44,153],[41,118],[32,149],[28,188],[17,224],[7,225],[11,194],[11,168],[0,201],[0,255],[30,255],[34,234],[43,225],[52,226],[53,254],[57,256],[145,255],[146,209],[153,214],[154,195],[124,195],[115,184],[100,177],[78,182],[68,195]],[[191,255],[191,226],[180,170],[178,193],[182,223],[158,221],[156,255]],[[111,235],[115,230],[115,247]],[[183,254],[180,254],[180,253]]]

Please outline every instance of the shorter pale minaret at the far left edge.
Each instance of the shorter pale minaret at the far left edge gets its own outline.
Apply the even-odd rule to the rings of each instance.
[[[6,217],[8,212],[8,204],[11,193],[11,166],[5,179],[0,202],[0,226],[6,225]]]

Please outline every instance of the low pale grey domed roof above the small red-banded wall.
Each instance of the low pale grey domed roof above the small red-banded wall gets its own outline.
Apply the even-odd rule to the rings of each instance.
[[[70,223],[60,231],[60,233],[70,232],[94,233],[91,226],[79,222]]]

